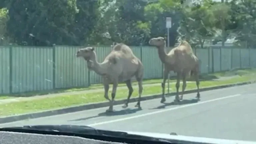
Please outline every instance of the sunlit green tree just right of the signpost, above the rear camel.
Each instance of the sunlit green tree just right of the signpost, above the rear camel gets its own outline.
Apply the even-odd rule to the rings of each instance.
[[[229,7],[211,0],[194,2],[190,7],[183,8],[183,20],[178,28],[179,38],[188,40],[192,45],[203,48],[206,41],[212,42],[218,38],[218,31],[230,19]]]

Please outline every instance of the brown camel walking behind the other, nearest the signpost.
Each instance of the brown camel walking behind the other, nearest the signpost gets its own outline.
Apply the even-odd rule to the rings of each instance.
[[[170,71],[177,73],[176,82],[176,101],[183,99],[183,93],[186,88],[186,77],[195,76],[197,86],[197,98],[200,98],[199,93],[199,60],[194,55],[193,50],[187,41],[181,42],[177,47],[173,48],[168,54],[165,52],[165,39],[163,37],[151,38],[149,44],[156,46],[158,55],[162,63],[164,63],[164,76],[162,83],[162,99],[161,103],[165,102],[165,82]],[[180,78],[183,79],[182,93],[179,98]]]

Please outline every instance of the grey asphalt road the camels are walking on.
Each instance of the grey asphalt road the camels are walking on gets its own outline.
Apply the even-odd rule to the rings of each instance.
[[[256,141],[256,84],[184,95],[174,103],[168,97],[166,104],[160,99],[143,101],[142,110],[130,103],[127,109],[115,106],[115,112],[106,114],[105,108],[1,124],[4,126],[36,124],[89,125],[95,128],[176,132],[180,135]]]

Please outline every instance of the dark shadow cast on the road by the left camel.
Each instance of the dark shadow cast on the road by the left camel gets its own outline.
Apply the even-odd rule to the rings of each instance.
[[[99,113],[96,116],[80,118],[80,119],[73,119],[73,120],[69,120],[69,121],[82,121],[82,120],[88,120],[88,119],[97,118],[97,117],[103,117],[103,116],[127,115],[127,114],[136,113],[136,112],[141,111],[141,110],[142,110],[142,108],[135,108],[135,109],[126,108],[126,109],[119,110],[119,111],[114,110],[114,112],[102,112],[102,113]]]

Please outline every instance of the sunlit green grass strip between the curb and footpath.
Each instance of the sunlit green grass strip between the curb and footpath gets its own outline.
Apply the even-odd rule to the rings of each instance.
[[[255,70],[250,72],[250,75],[247,75],[248,74],[247,72],[245,73],[246,74],[239,74],[239,76],[237,77],[226,79],[226,80],[202,80],[200,82],[200,88],[217,86],[217,85],[234,84],[239,82],[247,82],[255,79],[254,76],[251,75],[252,73],[253,74],[255,73]],[[224,76],[225,72],[224,73],[220,72],[212,75]],[[161,80],[158,81],[158,83],[160,82]],[[170,87],[172,88],[171,92],[175,91],[174,84],[171,84]],[[180,89],[181,88],[182,86],[180,86]],[[195,88],[196,88],[195,82],[187,83],[186,90],[191,90]],[[143,95],[158,94],[158,93],[161,93],[161,91],[162,91],[162,88],[160,85],[144,86]],[[109,93],[111,93],[111,91]],[[0,117],[15,115],[15,114],[22,114],[22,113],[30,113],[30,112],[36,112],[36,111],[42,111],[42,110],[50,110],[50,109],[56,109],[56,108],[62,108],[62,107],[69,107],[69,106],[87,104],[92,102],[102,102],[102,101],[105,101],[105,98],[103,95],[104,95],[103,92],[95,92],[95,93],[87,93],[87,94],[85,93],[85,94],[76,94],[76,95],[63,95],[58,97],[41,98],[41,99],[30,100],[30,101],[20,101],[20,102],[8,103],[8,104],[0,104]],[[118,90],[117,88],[116,100],[127,98],[127,95],[128,95],[128,89]],[[111,94],[109,94],[109,96],[111,96]],[[137,96],[138,96],[138,88],[137,86],[135,86],[132,97],[137,97]],[[143,106],[143,102],[142,102],[142,106]]]

